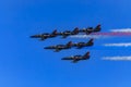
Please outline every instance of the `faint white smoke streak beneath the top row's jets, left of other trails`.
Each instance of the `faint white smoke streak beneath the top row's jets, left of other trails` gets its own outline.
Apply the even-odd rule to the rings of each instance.
[[[71,38],[107,38],[109,36],[103,36],[103,35],[74,35],[70,36]]]

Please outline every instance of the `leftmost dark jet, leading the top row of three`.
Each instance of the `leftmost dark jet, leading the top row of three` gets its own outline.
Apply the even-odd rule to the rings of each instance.
[[[47,38],[53,38],[58,35],[57,29],[55,29],[51,34],[45,33],[41,35],[33,35],[31,38],[40,38],[40,40],[45,40]]]

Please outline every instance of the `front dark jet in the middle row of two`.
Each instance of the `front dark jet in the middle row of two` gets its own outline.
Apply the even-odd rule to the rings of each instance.
[[[67,45],[49,46],[49,47],[45,47],[45,49],[53,49],[55,52],[59,52],[60,50],[70,49],[71,47],[72,47],[72,41],[69,41]]]

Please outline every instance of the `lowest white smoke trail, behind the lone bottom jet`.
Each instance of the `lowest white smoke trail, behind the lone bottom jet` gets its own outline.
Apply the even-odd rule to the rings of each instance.
[[[109,61],[131,61],[131,57],[105,57],[102,60],[109,60]]]

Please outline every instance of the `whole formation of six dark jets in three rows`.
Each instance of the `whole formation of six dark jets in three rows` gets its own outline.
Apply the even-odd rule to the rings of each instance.
[[[55,29],[52,33],[44,33],[44,34],[39,34],[39,35],[33,35],[31,36],[31,38],[39,38],[40,40],[45,40],[48,38],[55,38],[57,36],[61,36],[62,38],[67,38],[68,36],[72,36],[72,35],[79,35],[80,33],[84,33],[86,35],[90,35],[92,33],[97,33],[100,32],[102,27],[100,24],[98,24],[96,27],[87,27],[87,28],[82,28],[80,29],[79,27],[75,27],[73,30],[64,30],[64,32],[57,32],[57,29]],[[67,50],[67,49],[71,49],[71,48],[76,48],[76,49],[82,49],[84,47],[92,47],[94,45],[94,39],[91,38],[87,42],[72,42],[69,41],[66,45],[55,45],[55,46],[48,46],[45,47],[44,49],[48,49],[48,50],[53,50],[55,52],[59,52],[61,50]],[[73,63],[76,63],[78,61],[81,60],[88,60],[90,59],[90,52],[87,51],[84,55],[71,55],[71,57],[66,57],[62,58],[61,60],[72,60]]]

